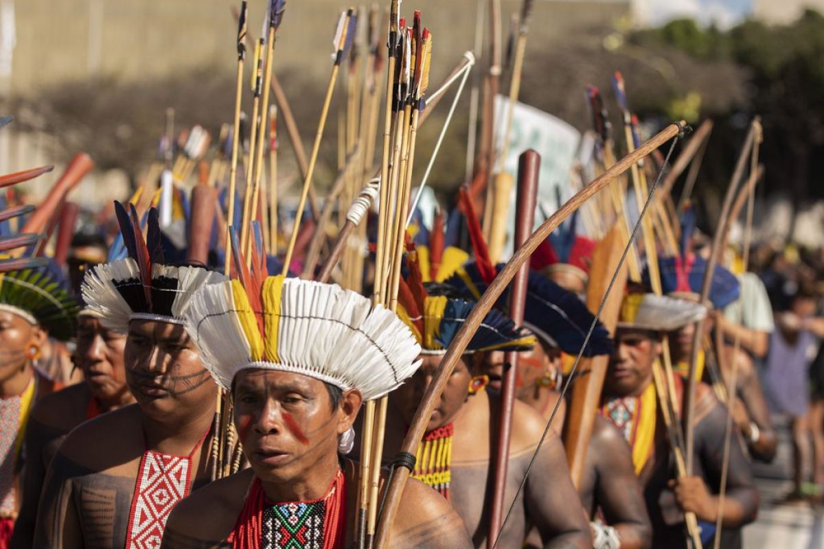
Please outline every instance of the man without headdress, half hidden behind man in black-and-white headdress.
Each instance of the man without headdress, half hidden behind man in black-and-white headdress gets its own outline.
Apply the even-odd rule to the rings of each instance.
[[[101,413],[134,402],[126,385],[125,344],[125,333],[105,328],[91,309],[81,311],[74,361],[85,381],[44,397],[31,412],[26,429],[28,460],[23,500],[12,547],[31,547],[46,469],[68,431]]]

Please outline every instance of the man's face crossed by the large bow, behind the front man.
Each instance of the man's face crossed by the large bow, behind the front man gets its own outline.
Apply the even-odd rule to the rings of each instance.
[[[432,378],[435,371],[438,370],[442,356],[424,355],[419,356],[419,358],[423,359],[419,370],[410,379],[407,379],[405,384],[391,393],[391,402],[394,403],[398,412],[400,412],[400,416],[404,418],[408,425],[412,424],[414,412],[418,409],[421,399],[424,398],[424,391],[432,383]],[[435,407],[426,426],[427,431],[445,426],[454,419],[469,396],[469,382],[471,379],[470,366],[462,356],[449,377],[447,386],[443,388],[438,406]]]

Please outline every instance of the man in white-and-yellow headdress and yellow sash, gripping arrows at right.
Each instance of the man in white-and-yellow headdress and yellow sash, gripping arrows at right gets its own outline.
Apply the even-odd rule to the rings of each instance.
[[[671,446],[664,436],[653,368],[661,352],[663,333],[695,322],[705,314],[701,305],[651,294],[629,294],[621,310],[616,348],[604,387],[602,413],[632,447],[635,472],[644,485],[653,523],[653,547],[686,547],[681,511],[695,513],[711,528],[721,515],[721,547],[741,547],[741,528],[756,517],[758,493],[750,465],[738,444],[730,445],[726,500],[719,508],[723,440],[727,410],[712,390],[699,384],[695,400],[695,471],[676,481]],[[676,399],[683,410],[683,382],[674,376]],[[663,389],[660,389],[663,391]],[[670,491],[674,489],[674,493]]]

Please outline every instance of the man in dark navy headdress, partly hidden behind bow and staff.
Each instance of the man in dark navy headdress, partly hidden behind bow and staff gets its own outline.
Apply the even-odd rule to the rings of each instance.
[[[486,288],[475,263],[467,263],[448,283],[466,288],[475,296]],[[506,295],[499,301],[504,303]],[[518,356],[516,395],[540,412],[544,421],[550,421],[559,400],[555,387],[559,383],[560,353],[578,356],[593,320],[577,295],[543,275],[530,272],[524,326],[536,334],[538,345]],[[606,355],[611,351],[609,333],[597,323],[584,356]],[[483,370],[490,379],[488,388],[495,388],[494,379],[501,379],[504,356],[503,351],[483,354]],[[561,401],[553,423],[559,434],[564,426],[564,411]],[[592,519],[593,547],[649,547],[651,528],[630,449],[615,426],[600,416],[592,429],[578,494]]]

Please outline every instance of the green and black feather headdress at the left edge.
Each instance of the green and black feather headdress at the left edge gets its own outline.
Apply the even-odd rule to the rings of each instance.
[[[77,300],[56,264],[0,274],[0,310],[16,314],[68,341],[77,323]]]

